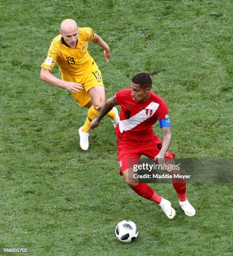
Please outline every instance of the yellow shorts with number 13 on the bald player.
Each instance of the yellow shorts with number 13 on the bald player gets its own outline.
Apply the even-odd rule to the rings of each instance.
[[[101,71],[96,63],[93,61],[93,64],[87,72],[82,76],[72,76],[72,75],[62,75],[62,79],[68,82],[76,82],[83,85],[83,89],[76,94],[71,93],[73,98],[79,104],[79,106],[85,106],[90,100],[91,97],[88,94],[88,91],[95,86],[104,86]]]

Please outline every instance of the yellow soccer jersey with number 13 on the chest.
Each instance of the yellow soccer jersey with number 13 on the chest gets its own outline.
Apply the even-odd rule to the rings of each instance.
[[[41,67],[51,72],[57,62],[62,79],[83,76],[93,65],[94,60],[87,49],[88,42],[93,39],[94,32],[91,28],[78,28],[78,33],[76,48],[68,47],[61,35],[56,36]]]

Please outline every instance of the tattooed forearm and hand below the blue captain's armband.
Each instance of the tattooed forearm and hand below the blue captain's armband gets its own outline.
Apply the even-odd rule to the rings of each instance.
[[[162,140],[162,148],[160,149],[160,153],[157,156],[154,156],[154,159],[159,161],[159,164],[165,164],[165,154],[170,147],[172,142],[172,129],[171,127],[163,127],[161,128],[163,140]]]

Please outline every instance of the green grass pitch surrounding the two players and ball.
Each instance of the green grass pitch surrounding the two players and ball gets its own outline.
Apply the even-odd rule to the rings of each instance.
[[[152,184],[177,212],[169,220],[119,177],[110,120],[81,151],[86,109],[39,74],[61,21],[73,18],[111,47],[106,63],[89,44],[106,98],[148,72],[170,109],[170,150],[180,158],[232,158],[233,2],[9,0],[0,13],[0,248],[39,256],[232,255],[232,184],[188,184],[192,218],[171,184]],[[53,74],[60,77],[58,67]],[[154,131],[162,135],[157,124]],[[134,243],[116,240],[124,219],[139,227]]]

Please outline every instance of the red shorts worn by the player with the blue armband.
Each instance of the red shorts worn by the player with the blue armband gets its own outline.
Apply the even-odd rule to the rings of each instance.
[[[124,170],[132,168],[134,164],[139,164],[141,155],[154,159],[160,153],[162,141],[155,134],[149,141],[129,141],[122,138],[117,139],[117,154],[120,166],[120,175]],[[175,154],[167,151],[165,161],[174,158]]]

